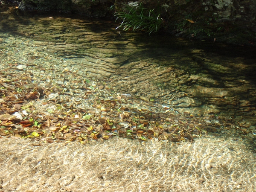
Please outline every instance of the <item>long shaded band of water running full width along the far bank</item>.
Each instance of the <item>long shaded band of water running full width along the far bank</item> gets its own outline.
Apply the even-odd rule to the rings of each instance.
[[[158,63],[159,65],[175,66],[183,69],[189,75],[207,74],[206,77],[218,81],[217,87],[224,87],[225,78],[240,78],[256,85],[256,76],[254,75],[256,74],[256,47],[188,40],[163,34],[148,36],[119,32],[115,30],[118,24],[113,21],[88,19],[78,15],[25,15],[13,8],[5,8],[2,10],[3,12],[5,14],[2,14],[0,30],[12,35],[20,35],[38,41],[47,40],[52,43],[66,42],[69,44],[79,44],[81,43],[79,39],[83,39],[84,42],[90,43],[90,47],[96,48],[98,44],[105,43],[104,48],[108,49],[108,42],[101,42],[100,38],[87,39],[86,34],[78,35],[75,40],[64,37],[67,33],[86,31],[104,36],[103,41],[115,42],[111,44],[110,54],[107,56],[113,58],[126,55],[129,59],[122,64],[127,64],[136,57],[159,58],[159,60],[165,60],[163,63]],[[126,48],[128,44],[132,44],[137,49],[134,52],[126,53],[126,50],[129,49]],[[72,54],[77,53],[77,56],[81,57],[83,52],[84,47],[81,46],[77,47],[76,52]],[[68,55],[68,53],[65,54]]]

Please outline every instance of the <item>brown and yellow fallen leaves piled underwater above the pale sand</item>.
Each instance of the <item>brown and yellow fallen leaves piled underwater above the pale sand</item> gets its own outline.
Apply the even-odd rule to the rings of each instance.
[[[179,142],[209,131],[157,99],[115,93],[111,79],[49,69],[15,63],[0,72],[0,136],[48,143],[114,136]]]

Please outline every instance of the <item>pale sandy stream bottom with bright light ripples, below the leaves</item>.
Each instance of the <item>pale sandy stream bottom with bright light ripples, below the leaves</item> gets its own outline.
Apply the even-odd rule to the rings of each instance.
[[[255,157],[243,140],[214,136],[195,143],[114,137],[85,145],[2,137],[0,191],[253,192]]]

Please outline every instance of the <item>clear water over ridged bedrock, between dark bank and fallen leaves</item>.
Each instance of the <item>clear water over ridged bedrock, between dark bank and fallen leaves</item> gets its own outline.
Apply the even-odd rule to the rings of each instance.
[[[115,94],[139,98],[138,108],[177,114],[176,122],[197,117],[193,121],[207,131],[256,134],[253,47],[118,32],[116,23],[82,17],[5,17],[2,63],[10,57],[9,62],[22,64],[35,55],[40,58],[35,64],[62,63],[56,73],[67,66],[105,81]]]

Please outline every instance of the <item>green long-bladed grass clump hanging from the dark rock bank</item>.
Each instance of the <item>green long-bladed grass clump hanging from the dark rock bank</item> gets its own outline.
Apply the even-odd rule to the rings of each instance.
[[[124,12],[116,12],[114,14],[116,20],[121,20],[120,25],[116,29],[124,31],[144,31],[149,34],[159,31],[163,26],[163,19],[154,9],[147,9],[140,3],[139,7],[126,6]]]

